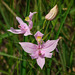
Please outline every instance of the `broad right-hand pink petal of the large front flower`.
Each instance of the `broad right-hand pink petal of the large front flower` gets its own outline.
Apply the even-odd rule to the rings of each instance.
[[[42,50],[46,52],[52,52],[58,43],[59,39],[57,40],[48,40],[46,43],[44,43]]]

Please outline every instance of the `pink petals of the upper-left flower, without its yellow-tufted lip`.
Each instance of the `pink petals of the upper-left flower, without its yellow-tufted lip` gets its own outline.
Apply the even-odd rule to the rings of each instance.
[[[30,32],[30,28],[27,26],[27,24],[24,23],[20,17],[16,17],[16,19],[20,24],[18,25],[18,28],[20,29],[14,29],[13,27],[11,27],[8,31],[14,34],[24,34],[24,36],[32,35]]]

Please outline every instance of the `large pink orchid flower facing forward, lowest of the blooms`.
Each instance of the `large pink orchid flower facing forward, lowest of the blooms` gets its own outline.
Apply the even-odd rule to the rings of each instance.
[[[38,45],[32,44],[29,42],[19,42],[25,52],[30,53],[32,59],[36,59],[37,64],[42,69],[45,64],[45,57],[51,58],[52,51],[56,48],[59,39],[57,40],[48,40],[47,42],[43,43],[42,37],[44,34],[37,31],[34,35]]]

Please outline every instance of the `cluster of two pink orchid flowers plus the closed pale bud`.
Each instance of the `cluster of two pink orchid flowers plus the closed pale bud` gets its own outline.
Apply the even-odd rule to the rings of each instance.
[[[45,16],[45,19],[52,20],[57,15],[58,8],[57,5],[55,5],[50,12]],[[20,29],[14,29],[11,27],[8,31],[14,33],[14,34],[24,34],[24,36],[32,35],[30,30],[33,27],[32,17],[36,12],[30,12],[29,17],[26,17],[25,20],[29,23],[29,26],[22,21],[20,17],[16,17],[17,21],[19,22],[18,28]],[[19,44],[22,46],[25,52],[29,53],[32,59],[36,59],[37,64],[42,69],[45,64],[45,57],[51,58],[52,57],[52,51],[56,49],[56,46],[58,44],[59,38],[57,40],[48,40],[44,42],[42,40],[44,34],[42,34],[40,31],[37,31],[34,35],[37,45],[29,42],[19,42]]]

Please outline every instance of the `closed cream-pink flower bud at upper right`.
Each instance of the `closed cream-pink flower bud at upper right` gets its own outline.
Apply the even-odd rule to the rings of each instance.
[[[57,13],[58,13],[58,6],[57,6],[57,4],[50,10],[50,12],[45,16],[45,19],[47,19],[47,20],[53,20],[55,17],[56,17],[56,15],[57,15]]]

